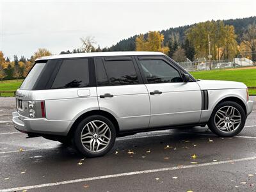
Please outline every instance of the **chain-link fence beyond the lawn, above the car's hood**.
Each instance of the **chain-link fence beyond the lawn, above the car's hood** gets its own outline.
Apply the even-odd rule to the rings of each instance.
[[[180,62],[179,65],[188,71],[193,71],[218,68],[249,67],[253,66],[253,61],[248,60],[247,58],[234,58],[233,60]]]

